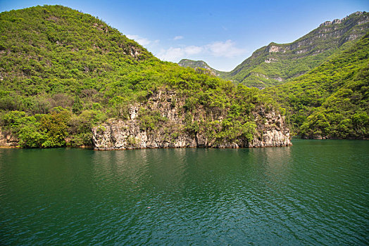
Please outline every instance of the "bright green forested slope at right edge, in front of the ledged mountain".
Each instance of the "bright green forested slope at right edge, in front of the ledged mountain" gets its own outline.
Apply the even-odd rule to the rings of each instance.
[[[325,63],[265,92],[308,138],[369,138],[369,32]]]

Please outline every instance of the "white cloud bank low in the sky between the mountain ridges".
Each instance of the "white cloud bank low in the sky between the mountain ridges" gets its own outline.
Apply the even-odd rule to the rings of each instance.
[[[245,49],[237,48],[234,41],[229,39],[227,41],[215,41],[204,46],[170,47],[161,50],[157,56],[161,60],[175,61],[179,58],[188,58],[194,55],[234,58],[244,56],[245,53]]]

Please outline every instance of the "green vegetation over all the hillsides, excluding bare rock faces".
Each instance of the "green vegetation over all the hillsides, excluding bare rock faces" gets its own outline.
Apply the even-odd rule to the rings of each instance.
[[[350,15],[346,22],[352,24],[367,15]],[[346,22],[334,24],[333,30],[342,30]],[[185,102],[187,123],[181,131],[201,132],[219,143],[239,136],[251,140],[257,134],[252,111],[276,108],[273,98],[286,109],[297,134],[368,138],[369,37],[348,41],[349,35],[358,37],[367,28],[365,23],[360,25],[351,25],[351,31],[336,37],[332,48],[321,41],[307,52],[314,56],[306,53],[292,59],[294,53],[289,50],[282,53],[285,62],[276,63],[273,58],[281,59],[281,53],[256,51],[252,58],[262,65],[250,68],[249,75],[258,77],[254,85],[260,85],[267,70],[283,78],[310,70],[261,91],[236,86],[207,69],[162,62],[105,22],[70,8],[37,6],[0,13],[1,131],[11,132],[27,148],[92,145],[92,127],[110,118],[126,119],[128,105],[143,103],[156,91],[171,90]],[[319,30],[298,41],[315,37]],[[270,82],[270,77],[263,78]],[[192,120],[198,108],[227,117],[222,122],[204,117],[199,125]],[[167,120],[144,108],[139,115],[142,129],[148,131]]]

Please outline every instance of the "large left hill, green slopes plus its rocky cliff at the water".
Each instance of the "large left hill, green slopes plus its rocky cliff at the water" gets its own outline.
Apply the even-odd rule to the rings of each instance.
[[[0,145],[290,145],[284,116],[258,89],[158,60],[92,15],[7,11],[0,32]]]

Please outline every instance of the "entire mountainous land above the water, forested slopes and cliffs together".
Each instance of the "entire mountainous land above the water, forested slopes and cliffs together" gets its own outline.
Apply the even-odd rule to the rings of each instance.
[[[287,146],[296,134],[368,138],[365,12],[262,47],[230,73],[202,61],[163,62],[64,6],[0,17],[4,146],[239,148]]]

